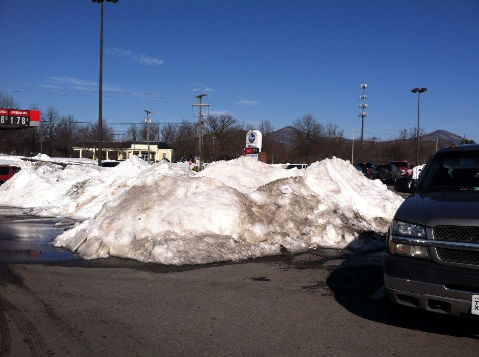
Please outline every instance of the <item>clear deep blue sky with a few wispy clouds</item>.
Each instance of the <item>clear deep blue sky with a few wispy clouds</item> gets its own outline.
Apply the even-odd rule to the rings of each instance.
[[[105,121],[197,120],[210,113],[275,128],[312,113],[351,137],[396,137],[416,125],[479,142],[479,1],[157,1],[104,5]],[[100,5],[1,0],[0,90],[27,109],[98,117]],[[141,95],[141,94],[151,95]],[[114,125],[124,132],[127,125]]]

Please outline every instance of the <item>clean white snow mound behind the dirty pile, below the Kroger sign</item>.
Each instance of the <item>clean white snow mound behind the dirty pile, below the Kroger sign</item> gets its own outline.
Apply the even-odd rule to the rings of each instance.
[[[198,176],[219,179],[227,186],[247,193],[268,182],[294,174],[294,171],[277,168],[242,156],[235,160],[211,163],[205,170],[198,173]]]

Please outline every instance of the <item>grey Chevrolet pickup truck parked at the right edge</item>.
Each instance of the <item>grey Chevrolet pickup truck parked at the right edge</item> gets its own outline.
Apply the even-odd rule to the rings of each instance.
[[[440,149],[416,187],[402,178],[394,189],[412,196],[387,234],[387,296],[413,308],[479,318],[479,145]]]

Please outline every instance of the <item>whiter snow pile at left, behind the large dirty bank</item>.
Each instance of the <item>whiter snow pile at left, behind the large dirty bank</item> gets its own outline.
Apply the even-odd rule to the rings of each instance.
[[[32,213],[40,216],[85,219],[98,213],[105,202],[136,184],[143,172],[184,174],[167,164],[148,165],[138,157],[112,168],[68,165],[61,170],[56,165],[39,164],[21,170],[1,186],[0,205],[32,207]]]

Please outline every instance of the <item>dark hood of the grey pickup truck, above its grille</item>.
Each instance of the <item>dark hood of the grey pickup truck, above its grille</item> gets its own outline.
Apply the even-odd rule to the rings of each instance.
[[[441,191],[414,194],[398,208],[395,219],[428,227],[479,227],[479,192]]]

